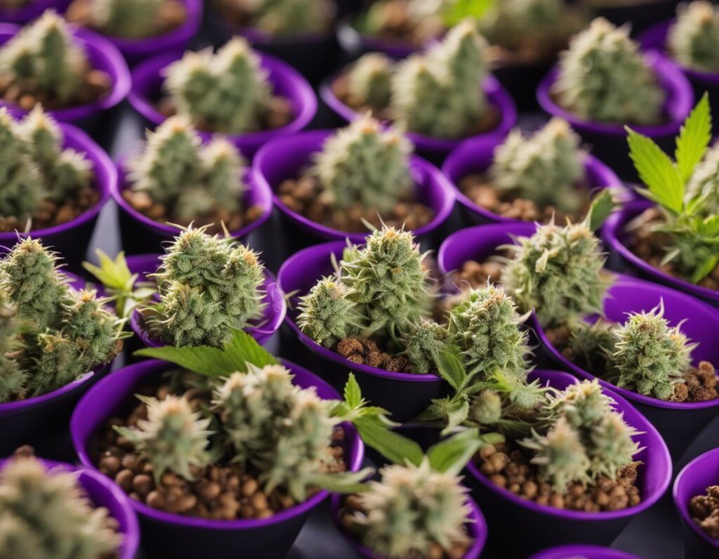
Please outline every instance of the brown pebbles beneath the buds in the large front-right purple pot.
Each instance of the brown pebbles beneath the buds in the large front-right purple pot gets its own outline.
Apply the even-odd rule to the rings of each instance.
[[[549,483],[542,482],[535,465],[516,442],[487,445],[475,458],[477,468],[492,483],[511,491],[522,499],[555,509],[584,512],[619,511],[641,502],[636,486],[635,462],[619,471],[616,479],[600,477],[593,486],[574,483],[564,494],[552,491]]]

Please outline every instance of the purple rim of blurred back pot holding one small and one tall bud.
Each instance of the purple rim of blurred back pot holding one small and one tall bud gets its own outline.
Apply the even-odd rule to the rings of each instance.
[[[354,119],[357,119],[360,114],[340,101],[335,96],[334,91],[332,91],[332,83],[343,71],[344,70],[341,70],[329,76],[320,86],[319,95],[333,112],[339,114],[339,116],[347,122],[352,122]],[[508,94],[507,90],[505,90],[494,76],[490,75],[485,78],[485,81],[482,83],[482,90],[487,95],[487,101],[497,109],[500,115],[500,122],[495,128],[482,132],[481,134],[467,136],[457,140],[436,138],[411,131],[406,132],[407,137],[412,140],[419,151],[433,153],[449,153],[468,138],[494,137],[495,142],[499,142],[517,123],[517,107],[510,94]]]

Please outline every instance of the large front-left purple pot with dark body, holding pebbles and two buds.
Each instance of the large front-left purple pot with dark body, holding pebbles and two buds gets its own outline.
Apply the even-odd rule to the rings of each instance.
[[[315,386],[323,399],[339,399],[339,394],[327,383],[305,368],[283,362],[294,375],[293,382],[302,388]],[[83,465],[96,470],[91,460],[91,447],[106,419],[132,401],[139,383],[151,381],[174,365],[150,360],[122,368],[94,386],[75,408],[70,422],[75,451]],[[347,431],[347,464],[358,471],[364,447],[352,427]],[[236,558],[240,553],[248,558],[284,557],[309,514],[329,496],[319,491],[307,501],[275,514],[269,519],[210,520],[184,517],[150,508],[132,501],[142,524],[142,547],[150,557],[180,558]]]

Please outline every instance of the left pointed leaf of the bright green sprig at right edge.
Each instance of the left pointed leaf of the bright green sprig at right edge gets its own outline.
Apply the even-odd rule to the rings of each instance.
[[[629,157],[639,178],[649,188],[649,197],[673,214],[684,208],[684,180],[669,155],[661,151],[654,140],[637,134],[630,128],[627,142]]]

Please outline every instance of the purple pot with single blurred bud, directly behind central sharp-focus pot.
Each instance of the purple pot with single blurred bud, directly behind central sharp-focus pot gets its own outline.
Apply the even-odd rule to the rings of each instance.
[[[298,212],[293,212],[277,194],[280,184],[288,178],[297,178],[303,168],[312,163],[312,156],[321,150],[322,144],[334,130],[311,130],[289,137],[278,138],[263,146],[252,163],[252,176],[262,188],[273,192],[273,202],[280,211],[282,224],[287,232],[282,235],[286,247],[283,254],[295,253],[308,245],[328,240],[349,239],[354,243],[365,242],[367,233],[348,233],[331,229]],[[433,245],[439,237],[437,229],[445,222],[454,206],[454,193],[444,175],[425,160],[413,156],[410,171],[416,183],[417,199],[434,210],[434,219],[413,230],[419,242]],[[275,240],[275,242],[277,242]]]

